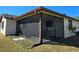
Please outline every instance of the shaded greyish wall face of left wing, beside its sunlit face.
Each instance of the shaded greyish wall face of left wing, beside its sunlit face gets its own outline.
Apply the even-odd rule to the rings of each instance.
[[[14,35],[14,34],[16,34],[16,21],[7,20],[6,21],[6,35]]]

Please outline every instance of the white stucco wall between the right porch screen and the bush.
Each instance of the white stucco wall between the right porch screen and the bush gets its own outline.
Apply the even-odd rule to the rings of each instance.
[[[73,33],[68,29],[68,26],[69,26],[68,20],[69,20],[68,18],[64,18],[64,38],[75,36],[75,33]],[[72,24],[74,24],[73,21],[72,21]]]

